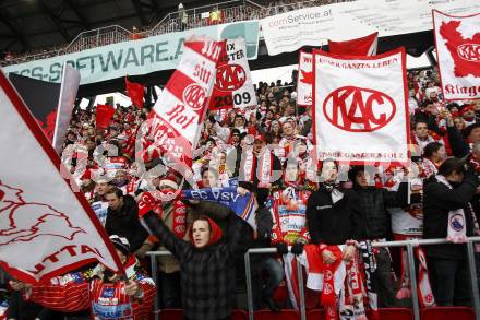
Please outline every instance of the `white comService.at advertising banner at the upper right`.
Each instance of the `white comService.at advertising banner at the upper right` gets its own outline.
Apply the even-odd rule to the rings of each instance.
[[[303,46],[327,45],[328,38],[347,40],[379,32],[380,37],[432,29],[432,9],[449,14],[480,10],[473,0],[358,0],[304,8],[261,20],[269,56]]]

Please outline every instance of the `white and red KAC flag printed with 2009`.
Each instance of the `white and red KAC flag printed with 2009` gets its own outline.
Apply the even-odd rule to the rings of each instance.
[[[226,55],[216,68],[211,110],[244,108],[256,105],[256,95],[247,60],[245,40],[228,39]]]

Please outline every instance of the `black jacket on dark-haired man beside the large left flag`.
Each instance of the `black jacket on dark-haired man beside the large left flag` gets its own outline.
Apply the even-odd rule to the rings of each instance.
[[[105,229],[109,236],[125,237],[130,242],[132,253],[139,250],[148,237],[148,233],[140,223],[136,201],[131,195],[123,195],[123,205],[120,210],[108,209]]]

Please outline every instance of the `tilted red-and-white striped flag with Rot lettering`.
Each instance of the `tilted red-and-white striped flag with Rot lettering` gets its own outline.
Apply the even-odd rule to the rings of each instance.
[[[144,138],[153,144],[144,152],[159,149],[170,161],[190,164],[223,48],[225,40],[192,38],[183,44],[180,63],[151,112]]]

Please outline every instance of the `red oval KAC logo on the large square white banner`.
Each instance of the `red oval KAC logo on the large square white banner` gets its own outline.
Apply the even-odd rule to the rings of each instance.
[[[372,132],[385,127],[395,116],[396,108],[387,94],[358,86],[339,87],[323,103],[326,119],[350,132]]]

